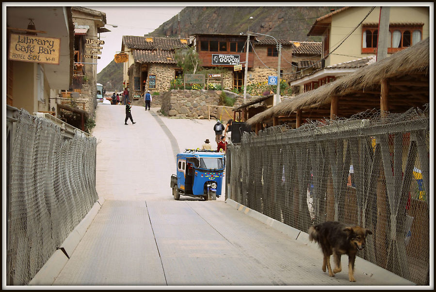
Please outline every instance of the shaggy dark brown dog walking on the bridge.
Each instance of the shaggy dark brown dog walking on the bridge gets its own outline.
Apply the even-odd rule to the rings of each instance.
[[[335,276],[335,273],[342,271],[340,256],[348,255],[348,278],[355,282],[354,262],[357,250],[365,248],[367,234],[372,234],[368,229],[357,225],[344,224],[338,221],[327,221],[309,228],[309,240],[317,242],[323,250],[323,272],[325,266],[328,268],[328,275]],[[330,256],[333,254],[336,267],[332,271]]]

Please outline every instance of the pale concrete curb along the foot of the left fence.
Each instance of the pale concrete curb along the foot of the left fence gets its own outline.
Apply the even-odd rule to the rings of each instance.
[[[51,255],[48,261],[36,273],[32,280],[27,284],[29,286],[50,286],[61,273],[69,257],[76,249],[76,246],[81,241],[83,235],[88,230],[101,206],[103,206],[104,198],[100,197],[94,203],[94,206],[89,210],[88,214],[67,236],[62,245]]]

